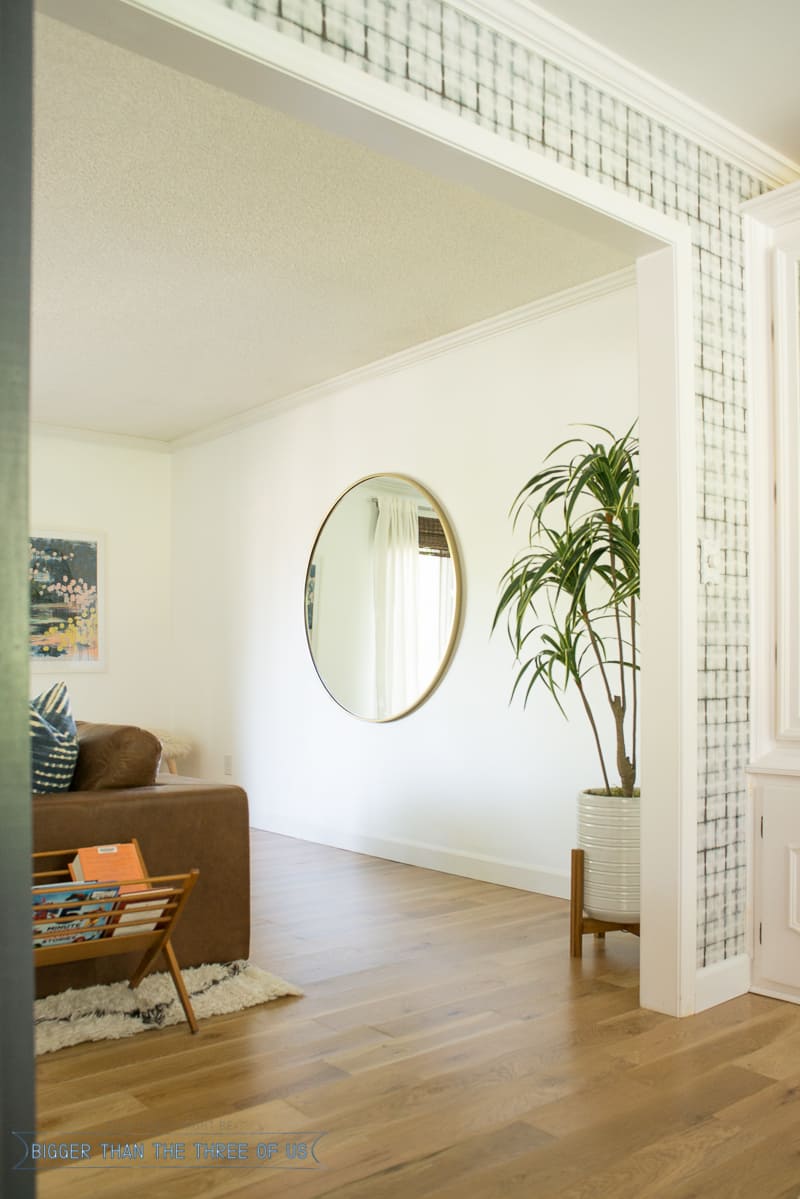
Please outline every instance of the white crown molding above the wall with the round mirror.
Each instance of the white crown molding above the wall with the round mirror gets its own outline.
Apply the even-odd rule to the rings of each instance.
[[[303,387],[302,391],[293,392],[279,399],[269,400],[266,404],[259,404],[258,408],[251,408],[246,412],[217,421],[204,429],[187,433],[186,436],[176,438],[169,444],[169,448],[186,450],[206,441],[215,441],[217,438],[236,433],[239,429],[247,428],[251,424],[260,424],[263,421],[272,420],[290,409],[311,404],[317,399],[324,399],[326,396],[332,396],[348,387],[373,382],[375,379],[396,374],[398,370],[407,370],[409,367],[419,366],[421,362],[427,362],[431,359],[438,359],[443,354],[450,354],[452,350],[458,350],[465,345],[483,342],[489,337],[497,337],[500,333],[511,332],[523,325],[530,325],[547,317],[553,317],[565,308],[576,308],[579,305],[590,303],[593,300],[600,300],[602,296],[612,295],[615,291],[622,291],[632,287],[636,287],[636,267],[626,266],[621,271],[603,275],[601,278],[591,279],[589,283],[579,283],[575,288],[555,291],[553,295],[534,300],[531,303],[522,305],[519,308],[511,308],[497,317],[488,317],[486,320],[476,321],[474,325],[465,325],[453,333],[444,333],[441,337],[434,337],[428,342],[420,342],[408,350],[390,354],[385,359],[378,359],[375,362],[369,362],[363,367],[356,367],[355,370],[348,370],[344,374],[326,379],[311,387]]]

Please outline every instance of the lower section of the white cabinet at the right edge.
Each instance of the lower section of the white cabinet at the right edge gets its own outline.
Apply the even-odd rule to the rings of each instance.
[[[800,1002],[800,779],[753,785],[753,982]]]

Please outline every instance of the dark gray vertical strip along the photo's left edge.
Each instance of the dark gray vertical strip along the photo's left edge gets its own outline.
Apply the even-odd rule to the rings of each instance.
[[[32,2],[0,0],[0,1193],[34,1195],[28,733],[28,359]]]

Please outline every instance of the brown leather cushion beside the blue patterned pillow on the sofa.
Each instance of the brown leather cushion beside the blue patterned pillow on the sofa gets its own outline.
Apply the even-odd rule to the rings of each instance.
[[[160,760],[161,741],[146,729],[78,721],[78,765],[71,790],[150,787]]]

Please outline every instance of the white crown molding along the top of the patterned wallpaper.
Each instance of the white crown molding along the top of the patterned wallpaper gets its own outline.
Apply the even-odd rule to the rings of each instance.
[[[521,42],[631,108],[720,155],[771,187],[800,179],[800,163],[759,141],[528,0],[446,0],[451,8]]]

